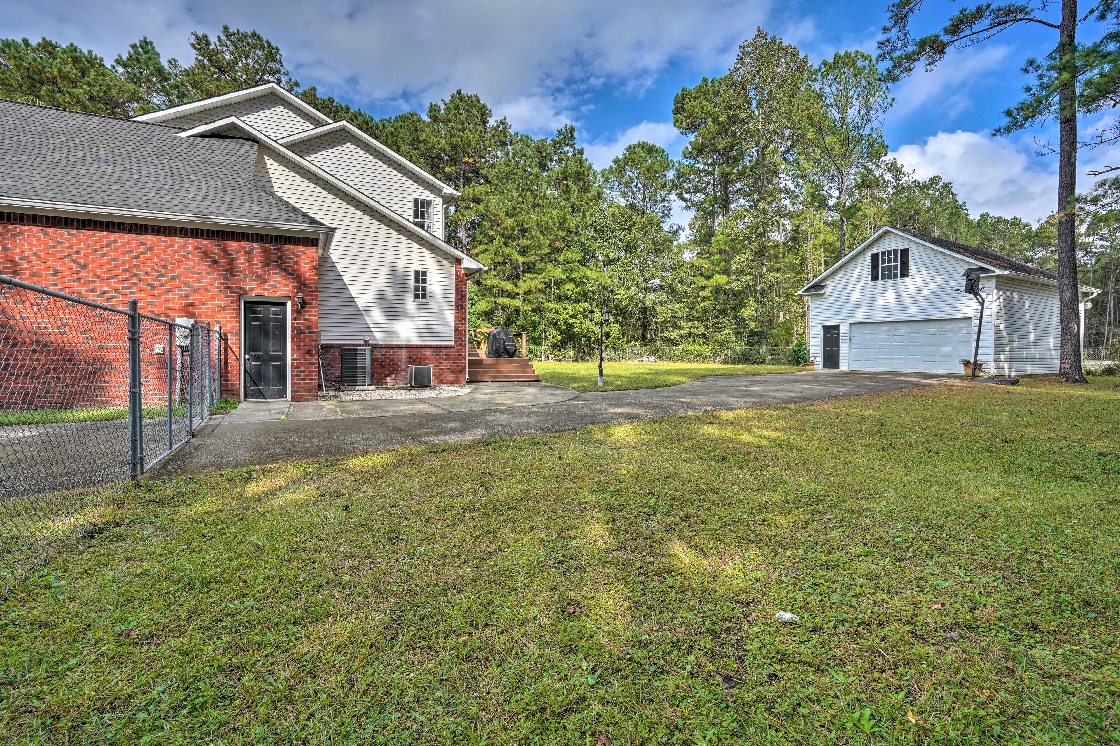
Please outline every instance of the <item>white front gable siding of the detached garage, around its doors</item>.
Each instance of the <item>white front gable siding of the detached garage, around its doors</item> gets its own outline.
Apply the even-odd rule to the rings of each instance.
[[[909,277],[887,282],[871,280],[871,252],[909,246]],[[974,267],[956,257],[931,249],[897,233],[884,233],[874,244],[864,248],[823,282],[823,295],[809,296],[812,326],[809,334],[810,354],[816,365],[823,365],[822,326],[840,325],[840,370],[852,370],[850,347],[852,324],[923,319],[974,319],[980,305],[971,296],[955,292],[964,288],[964,270]],[[992,278],[982,285],[988,309],[980,336],[980,358],[990,361],[992,351]],[[974,326],[971,326],[974,329]],[[913,369],[911,369],[913,370]]]

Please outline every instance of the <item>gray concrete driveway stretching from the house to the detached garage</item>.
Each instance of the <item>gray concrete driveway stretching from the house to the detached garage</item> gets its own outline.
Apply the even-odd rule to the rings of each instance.
[[[921,373],[720,375],[664,389],[578,394],[548,383],[478,383],[463,397],[353,402],[244,403],[213,418],[152,473],[206,474],[249,464],[339,456],[361,450],[483,440],[591,425],[833,397],[899,391],[958,381]],[[287,417],[281,421],[281,414]]]

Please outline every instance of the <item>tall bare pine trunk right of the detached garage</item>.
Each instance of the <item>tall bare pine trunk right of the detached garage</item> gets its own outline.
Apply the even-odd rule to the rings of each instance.
[[[1061,26],[1058,55],[1066,82],[1058,92],[1057,295],[1062,329],[1058,375],[1071,383],[1086,383],[1081,370],[1081,293],[1077,291],[1077,224],[1074,220],[1077,189],[1076,0],[1062,0]]]

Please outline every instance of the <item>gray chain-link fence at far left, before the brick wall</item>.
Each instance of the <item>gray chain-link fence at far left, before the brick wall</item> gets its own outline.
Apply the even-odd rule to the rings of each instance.
[[[0,588],[190,439],[221,399],[220,341],[0,274]]]

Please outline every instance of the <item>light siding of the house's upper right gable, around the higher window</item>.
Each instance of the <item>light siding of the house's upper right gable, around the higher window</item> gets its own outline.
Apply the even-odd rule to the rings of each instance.
[[[292,143],[288,149],[407,221],[412,221],[413,199],[431,199],[431,233],[444,237],[442,189],[393,162],[349,132],[332,132]]]

